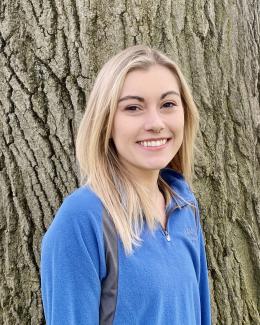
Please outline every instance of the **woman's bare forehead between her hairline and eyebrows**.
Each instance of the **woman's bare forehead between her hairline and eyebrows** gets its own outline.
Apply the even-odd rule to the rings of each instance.
[[[174,90],[180,92],[178,79],[169,68],[152,65],[148,69],[137,69],[126,75],[121,96],[162,94]]]

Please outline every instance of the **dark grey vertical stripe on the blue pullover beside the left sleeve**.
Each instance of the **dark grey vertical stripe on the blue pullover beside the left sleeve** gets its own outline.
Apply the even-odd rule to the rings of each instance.
[[[103,237],[107,276],[101,283],[99,324],[112,325],[118,291],[118,246],[114,223],[105,208],[103,209]]]

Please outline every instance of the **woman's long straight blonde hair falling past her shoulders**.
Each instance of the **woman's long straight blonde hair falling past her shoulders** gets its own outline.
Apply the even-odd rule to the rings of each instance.
[[[167,67],[179,83],[184,107],[183,143],[168,167],[183,174],[191,185],[198,110],[180,69],[158,50],[143,45],[132,46],[112,57],[103,66],[90,93],[76,141],[81,184],[90,186],[101,199],[127,254],[132,252],[133,245],[140,245],[144,219],[149,229],[153,230],[158,217],[154,215],[153,202],[147,189],[132,179],[120,163],[111,133],[127,73],[136,69],[148,69],[152,65]],[[161,177],[158,186],[168,205],[174,192]]]

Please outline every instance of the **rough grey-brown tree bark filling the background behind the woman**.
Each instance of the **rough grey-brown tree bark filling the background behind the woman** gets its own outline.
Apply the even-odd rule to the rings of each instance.
[[[213,324],[260,324],[258,0],[1,0],[0,324],[44,324],[40,242],[78,185],[74,140],[97,71],[166,52],[201,114],[200,201]]]

